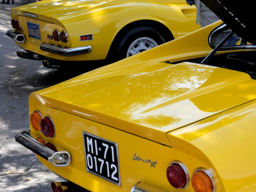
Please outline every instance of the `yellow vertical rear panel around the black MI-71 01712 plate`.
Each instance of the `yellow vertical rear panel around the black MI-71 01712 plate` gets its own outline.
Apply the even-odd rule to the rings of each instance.
[[[38,108],[43,116],[51,116],[56,126],[55,138],[45,138],[41,132],[35,132],[34,130],[31,130],[32,136],[35,138],[41,137],[45,141],[53,143],[59,151],[68,151],[71,156],[71,162],[67,167],[56,167],[45,159],[37,157],[54,173],[71,182],[75,182],[89,191],[130,192],[131,187],[141,181],[167,192],[178,192],[180,189],[174,189],[166,176],[166,170],[174,160],[180,160],[188,166],[190,174],[197,167],[212,168],[209,160],[200,159],[204,155],[199,150],[194,149],[194,151],[198,152],[197,156],[187,155],[181,150],[175,150],[110,126],[43,106],[40,100],[34,96],[32,96],[30,102],[31,108]],[[118,143],[121,186],[86,172],[82,131]],[[150,163],[133,160],[135,153],[140,158],[156,162],[155,167],[151,167]],[[218,185],[221,186],[221,182],[218,182]],[[221,189],[221,187],[219,188]],[[189,183],[188,188],[183,191],[193,191],[191,184]]]

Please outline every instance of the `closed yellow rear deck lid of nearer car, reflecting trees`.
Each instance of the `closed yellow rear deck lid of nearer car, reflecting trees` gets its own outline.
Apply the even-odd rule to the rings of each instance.
[[[247,73],[188,62],[74,82],[40,93],[53,108],[165,145],[167,132],[256,99]]]

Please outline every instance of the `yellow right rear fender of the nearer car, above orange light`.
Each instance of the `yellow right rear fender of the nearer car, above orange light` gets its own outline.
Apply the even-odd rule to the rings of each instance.
[[[173,149],[194,156],[195,151],[187,148],[192,144],[205,154],[225,191],[252,192],[256,191],[255,113],[252,101],[167,135]]]

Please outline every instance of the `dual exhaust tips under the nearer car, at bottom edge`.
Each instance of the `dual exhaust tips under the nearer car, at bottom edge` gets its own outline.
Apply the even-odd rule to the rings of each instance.
[[[53,192],[91,192],[72,182],[52,182]]]

